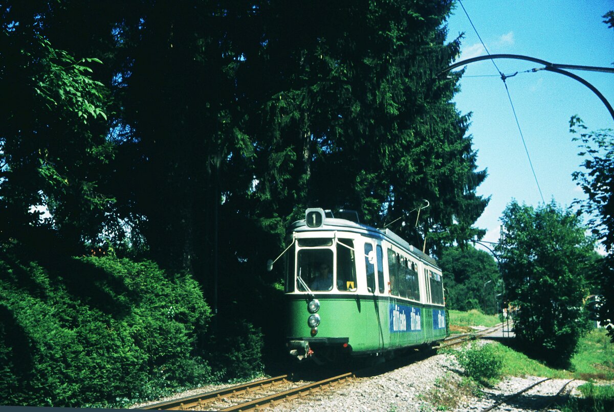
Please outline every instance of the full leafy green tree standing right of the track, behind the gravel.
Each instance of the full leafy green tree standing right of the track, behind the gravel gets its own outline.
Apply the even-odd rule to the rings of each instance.
[[[583,298],[594,240],[580,218],[551,203],[534,209],[511,202],[496,250],[513,311],[516,338],[535,356],[565,364],[588,329]]]

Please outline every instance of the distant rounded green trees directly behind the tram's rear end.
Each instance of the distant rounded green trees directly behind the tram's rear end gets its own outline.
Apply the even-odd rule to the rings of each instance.
[[[472,246],[451,246],[441,253],[438,264],[443,271],[446,305],[461,311],[480,309],[497,313],[496,294],[501,275],[491,255]]]

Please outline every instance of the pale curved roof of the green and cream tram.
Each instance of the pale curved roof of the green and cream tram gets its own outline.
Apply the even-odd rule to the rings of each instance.
[[[410,245],[405,239],[400,237],[399,235],[392,232],[390,229],[378,229],[373,226],[368,226],[366,224],[356,223],[346,219],[339,218],[324,218],[322,221],[322,225],[319,227],[309,227],[307,226],[307,222],[305,219],[297,220],[292,223],[289,227],[290,232],[313,232],[313,231],[350,231],[350,232],[358,232],[362,234],[366,234],[369,237],[382,238],[386,239],[391,243],[395,243],[398,246],[401,246],[405,250],[408,250],[411,254],[422,259],[422,261],[426,261],[431,265],[437,266],[437,261],[430,257],[428,254],[423,253],[421,250],[416,248],[415,246]]]

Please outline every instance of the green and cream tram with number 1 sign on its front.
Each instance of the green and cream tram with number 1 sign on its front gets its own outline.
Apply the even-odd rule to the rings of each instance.
[[[329,211],[308,209],[306,219],[293,223],[288,232],[290,355],[319,362],[339,354],[384,354],[443,340],[443,283],[435,260],[388,229],[330,216]],[[332,268],[330,290],[314,283],[322,262]],[[313,300],[319,303],[317,311],[308,308]],[[308,324],[312,315],[319,316],[316,327]]]

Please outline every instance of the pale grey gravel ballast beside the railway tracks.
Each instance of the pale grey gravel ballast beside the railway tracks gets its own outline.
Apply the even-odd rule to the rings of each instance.
[[[298,399],[280,403],[275,406],[263,406],[260,411],[290,412],[290,411],[432,411],[434,406],[428,402],[432,392],[443,391],[439,380],[460,381],[462,368],[451,354],[437,354],[410,365],[397,368],[391,372],[382,373],[367,378],[354,378],[332,389],[315,391]],[[482,397],[465,397],[453,393],[456,398],[456,411],[480,411],[494,405],[495,402],[515,394],[532,383],[543,380],[537,376],[524,378],[508,377],[492,388],[483,388]],[[503,404],[495,411],[536,411],[541,410],[547,398],[556,395],[567,380],[550,380],[525,392],[510,404]],[[577,395],[577,388],[584,381],[573,381],[568,389]],[[227,385],[223,385],[227,386]],[[444,385],[445,386],[445,385]],[[198,392],[221,389],[222,386],[211,386],[194,391],[183,392],[174,398],[185,397]],[[435,389],[433,389],[435,388]],[[448,389],[449,390],[449,389]],[[429,391],[431,394],[429,395]],[[141,405],[134,405],[136,407]],[[134,407],[133,406],[133,407]],[[556,409],[550,409],[556,411]]]

